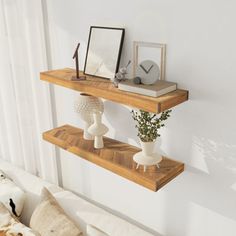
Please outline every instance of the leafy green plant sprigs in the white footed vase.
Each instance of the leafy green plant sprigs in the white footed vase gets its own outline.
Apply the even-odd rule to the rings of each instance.
[[[143,142],[153,142],[160,137],[159,129],[164,127],[163,122],[170,117],[171,110],[161,113],[158,117],[147,111],[139,110],[139,112],[132,110],[132,117],[136,122],[135,127],[138,129],[138,137]]]

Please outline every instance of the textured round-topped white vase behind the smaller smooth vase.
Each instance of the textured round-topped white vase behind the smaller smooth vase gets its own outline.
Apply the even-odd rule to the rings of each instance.
[[[75,102],[75,111],[85,122],[84,139],[93,140],[94,136],[88,133],[88,128],[94,123],[93,113],[104,111],[104,105],[100,98],[81,93]]]

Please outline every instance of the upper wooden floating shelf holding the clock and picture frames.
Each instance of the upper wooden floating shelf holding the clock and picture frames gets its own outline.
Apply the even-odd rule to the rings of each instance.
[[[73,75],[75,75],[75,70],[66,68],[42,72],[40,79],[153,113],[163,112],[188,100],[188,91],[186,90],[177,89],[174,92],[154,98],[121,91],[115,88],[109,80],[94,76],[86,75],[87,80],[84,81],[71,81]]]

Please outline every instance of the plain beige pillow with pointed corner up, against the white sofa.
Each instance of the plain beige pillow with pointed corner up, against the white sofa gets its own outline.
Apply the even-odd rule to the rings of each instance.
[[[41,236],[79,236],[82,231],[73,223],[59,206],[52,194],[43,188],[41,203],[36,207],[30,220],[30,227]]]

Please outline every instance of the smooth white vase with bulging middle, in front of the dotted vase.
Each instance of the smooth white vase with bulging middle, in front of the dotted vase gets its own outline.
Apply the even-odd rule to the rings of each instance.
[[[102,124],[102,113],[101,112],[95,112],[93,114],[94,117],[94,124],[92,124],[88,128],[88,132],[94,136],[94,147],[95,148],[103,148],[103,135],[107,133],[108,128]]]

